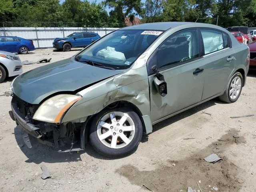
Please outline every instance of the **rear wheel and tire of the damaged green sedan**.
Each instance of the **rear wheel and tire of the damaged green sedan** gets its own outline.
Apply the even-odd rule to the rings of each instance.
[[[240,72],[234,73],[228,82],[224,94],[219,96],[220,100],[226,103],[236,102],[241,94],[243,83],[242,74]]]

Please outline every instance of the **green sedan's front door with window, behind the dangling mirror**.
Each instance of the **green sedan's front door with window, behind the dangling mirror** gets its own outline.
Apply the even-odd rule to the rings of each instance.
[[[204,63],[200,58],[196,29],[184,30],[168,37],[148,60],[148,68],[154,65],[164,76],[167,95],[162,97],[157,92],[155,74],[149,74],[152,122],[201,101]]]

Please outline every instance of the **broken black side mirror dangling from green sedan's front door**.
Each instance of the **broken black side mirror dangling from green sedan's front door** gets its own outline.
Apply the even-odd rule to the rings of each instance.
[[[167,84],[164,81],[164,76],[158,72],[157,66],[152,66],[151,71],[156,74],[154,77],[154,84],[157,92],[162,96],[167,95]]]

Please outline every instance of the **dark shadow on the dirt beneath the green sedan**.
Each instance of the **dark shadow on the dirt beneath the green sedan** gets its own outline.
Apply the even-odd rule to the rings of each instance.
[[[186,118],[188,116],[191,116],[197,112],[203,111],[211,106],[214,106],[216,103],[222,103],[218,99],[213,99],[208,102],[205,102],[203,104],[200,104],[194,108],[191,108],[189,110],[186,110],[180,114],[177,114],[175,116],[172,116],[166,120],[163,120],[162,122],[159,122],[153,126],[153,132],[156,132],[160,130],[163,127],[170,126],[171,124]],[[224,104],[224,103],[223,103]],[[31,163],[34,162],[36,164],[40,164],[41,162],[47,162],[47,163],[55,163],[55,162],[78,162],[81,160],[81,155],[86,153],[89,156],[92,156],[93,158],[97,159],[104,159],[104,160],[112,160],[113,158],[108,158],[105,156],[102,156],[98,154],[90,145],[90,143],[86,144],[85,150],[79,151],[79,152],[64,152],[60,153],[54,150],[54,148],[48,147],[46,145],[40,144],[36,138],[33,138],[30,140],[32,144],[32,148],[28,148],[26,144],[24,144],[23,141],[23,130],[20,128],[20,126],[16,126],[14,128],[14,135],[16,138],[16,142],[18,146],[20,147],[20,150],[26,155],[28,158],[25,162]],[[148,141],[148,135],[143,135],[142,142]],[[135,152],[135,151],[134,151]],[[123,157],[122,157],[123,158]],[[117,159],[117,158],[115,158]]]

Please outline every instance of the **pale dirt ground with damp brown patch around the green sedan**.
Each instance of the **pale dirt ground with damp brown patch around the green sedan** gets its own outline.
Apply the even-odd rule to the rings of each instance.
[[[78,52],[36,50],[21,60],[52,62]],[[24,66],[24,71],[42,64]],[[256,188],[256,72],[250,72],[237,102],[210,100],[153,126],[138,150],[125,158],[100,156],[88,144],[79,153],[58,153],[33,141],[8,115],[10,82],[0,84],[0,191],[86,192],[254,192]],[[7,94],[4,94],[7,92]],[[230,118],[254,114],[245,118]],[[234,138],[238,137],[238,138]],[[204,161],[212,153],[222,160]],[[51,178],[42,180],[44,164]],[[200,186],[198,186],[198,184]],[[148,189],[147,189],[148,188]],[[150,189],[150,190],[149,190]]]

